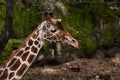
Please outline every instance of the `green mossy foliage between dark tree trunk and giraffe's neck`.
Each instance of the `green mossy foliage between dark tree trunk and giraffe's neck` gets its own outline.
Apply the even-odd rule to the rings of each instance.
[[[38,3],[36,3],[37,5]],[[33,3],[14,6],[14,31],[16,38],[28,36],[41,22],[42,13]]]

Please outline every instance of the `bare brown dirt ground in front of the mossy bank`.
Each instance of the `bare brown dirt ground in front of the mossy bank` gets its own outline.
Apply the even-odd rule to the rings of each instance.
[[[22,80],[120,80],[120,58],[78,59],[30,68]]]

